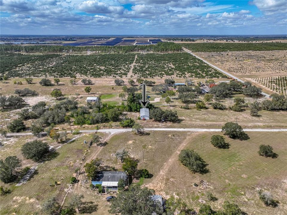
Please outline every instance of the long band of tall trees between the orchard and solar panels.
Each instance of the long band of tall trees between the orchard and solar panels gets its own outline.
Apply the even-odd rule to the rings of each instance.
[[[159,42],[156,45],[132,45],[132,46],[57,46],[57,45],[0,45],[1,51],[25,52],[25,53],[62,53],[64,50],[72,50],[74,52],[96,51],[103,53],[127,53],[134,51],[180,51],[181,45],[170,42]]]

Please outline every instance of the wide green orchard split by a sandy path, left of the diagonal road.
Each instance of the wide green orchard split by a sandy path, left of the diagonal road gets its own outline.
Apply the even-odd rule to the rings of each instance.
[[[12,60],[15,56],[15,60]],[[27,55],[7,53],[2,61],[8,77],[127,77],[163,76],[226,78],[224,74],[187,53],[166,54]],[[27,62],[25,62],[25,60]],[[31,61],[32,60],[32,61]],[[31,62],[30,62],[31,61]],[[133,62],[135,61],[135,64]],[[133,65],[133,67],[131,67]],[[9,69],[10,68],[10,69]]]

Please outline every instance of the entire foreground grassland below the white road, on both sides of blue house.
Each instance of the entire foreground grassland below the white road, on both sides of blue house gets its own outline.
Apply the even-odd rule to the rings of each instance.
[[[156,193],[167,197],[170,195],[182,197],[191,207],[198,209],[199,199],[207,200],[205,194],[211,191],[219,198],[216,202],[208,202],[213,208],[218,209],[224,200],[235,201],[248,214],[283,215],[287,205],[284,194],[286,185],[287,148],[282,142],[286,132],[248,132],[247,141],[233,140],[225,136],[230,144],[229,149],[217,149],[210,144],[210,137],[221,133],[191,133],[191,132],[150,132],[149,135],[139,136],[132,132],[114,134],[105,146],[92,145],[86,154],[86,160],[81,161],[87,146],[83,140],[89,140],[91,135],[82,135],[76,142],[62,145],[57,149],[59,155],[42,164],[35,164],[25,160],[20,154],[21,145],[34,139],[33,136],[13,138],[10,144],[4,143],[1,147],[1,158],[17,155],[23,159],[25,166],[38,165],[38,172],[26,184],[15,187],[16,183],[5,184],[12,193],[2,198],[1,205],[4,210],[1,214],[34,214],[39,212],[39,205],[44,199],[55,195],[62,202],[69,188],[70,177],[77,167],[95,157],[102,158],[105,165],[113,165],[122,170],[122,164],[116,159],[116,151],[125,148],[132,157],[139,160],[138,168],[146,168],[152,174],[149,179],[144,179],[144,185],[155,189]],[[107,134],[102,134],[103,138]],[[55,148],[60,146],[47,137]],[[260,144],[270,144],[279,156],[277,159],[259,156],[257,151]],[[99,148],[100,147],[100,148]],[[193,174],[178,162],[178,153],[181,149],[190,148],[198,152],[209,164],[209,173],[205,175]],[[200,181],[207,182],[207,187],[200,185]],[[61,185],[54,186],[54,181]],[[134,179],[134,183],[138,180]],[[198,183],[199,187],[193,187]],[[1,183],[1,185],[3,185]],[[53,186],[51,186],[53,185]],[[106,195],[98,195],[88,187],[89,183],[74,185],[68,189],[68,203],[72,193],[82,193],[84,201],[92,201],[97,205],[94,215],[107,215],[109,203]],[[280,201],[279,207],[268,208],[259,201],[256,188],[270,191]],[[72,191],[73,190],[73,191]],[[64,205],[65,205],[64,204]]]

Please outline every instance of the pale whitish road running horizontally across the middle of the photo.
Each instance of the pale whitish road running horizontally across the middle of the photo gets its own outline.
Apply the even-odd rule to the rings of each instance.
[[[221,131],[221,129],[208,129],[208,128],[145,128],[147,131],[195,131],[195,132],[214,132]],[[273,128],[250,128],[243,129],[244,131],[259,131],[259,132],[278,132],[278,131],[287,131],[286,128],[283,129],[273,129]],[[106,132],[106,133],[121,133],[132,131],[131,128],[108,128],[108,129],[100,129],[100,130],[80,130],[81,133],[94,133],[94,132]],[[71,131],[67,131],[67,133],[71,133]],[[45,134],[45,132],[43,133]],[[32,133],[7,133],[7,136],[25,136],[25,135],[33,135]]]

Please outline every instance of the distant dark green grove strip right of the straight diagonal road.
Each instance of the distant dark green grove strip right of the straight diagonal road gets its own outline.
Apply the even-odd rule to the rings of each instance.
[[[183,47],[194,52],[269,51],[287,50],[287,43],[184,43]]]

